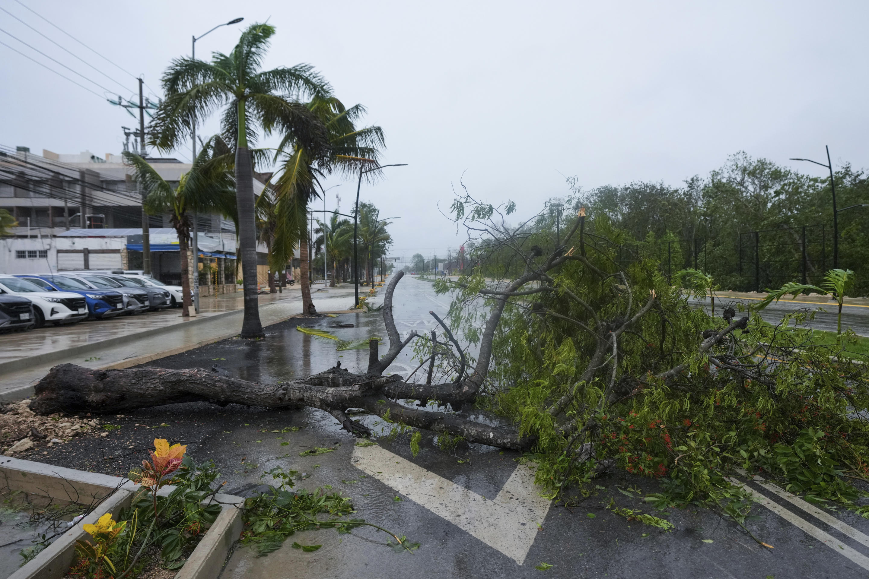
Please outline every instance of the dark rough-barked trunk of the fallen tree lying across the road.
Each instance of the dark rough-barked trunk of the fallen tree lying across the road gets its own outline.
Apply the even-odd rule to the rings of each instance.
[[[345,420],[344,410],[364,408],[390,422],[448,432],[461,436],[468,443],[516,451],[527,451],[534,444],[533,438],[519,438],[511,428],[399,405],[390,398],[410,393],[407,385],[399,385],[400,381],[398,376],[353,374],[337,366],[301,381],[261,385],[202,368],[93,370],[62,364],[53,367],[36,385],[36,399],[30,403],[30,409],[38,414],[57,411],[111,414],[185,402],[273,409],[311,406],[332,413],[342,420],[345,430],[362,437],[371,431],[363,424]],[[429,388],[434,391],[437,387]]]

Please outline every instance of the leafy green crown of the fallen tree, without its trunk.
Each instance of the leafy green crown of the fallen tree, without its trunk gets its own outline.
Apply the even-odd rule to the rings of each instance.
[[[462,208],[471,213],[467,199]],[[502,299],[492,292],[513,292],[477,405],[534,440],[551,497],[617,468],[658,479],[663,491],[649,498],[659,508],[705,504],[741,525],[747,494],[731,477],[744,469],[857,508],[849,481],[869,481],[869,358],[816,345],[806,311],[774,326],[734,304],[708,315],[653,255],[627,251],[630,236],[606,214],[584,227],[562,247],[547,223],[500,238],[490,227],[472,246],[479,265],[436,286],[453,292],[451,321],[472,343]],[[535,271],[545,276],[510,285]],[[699,271],[679,277],[690,293],[714,288]]]

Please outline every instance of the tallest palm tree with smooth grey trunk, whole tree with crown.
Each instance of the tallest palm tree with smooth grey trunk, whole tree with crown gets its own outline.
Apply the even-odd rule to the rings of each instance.
[[[258,129],[280,132],[319,156],[326,150],[325,130],[299,102],[301,96],[327,96],[328,85],[308,64],[261,70],[275,27],[253,24],[242,33],[235,49],[216,52],[211,62],[176,58],[163,75],[166,99],[151,124],[151,142],[170,150],[189,138],[194,119],[209,116],[227,105],[222,131],[235,148],[235,187],[238,235],[244,282],[242,338],[262,338],[256,294],[256,224],[253,167],[249,143]]]

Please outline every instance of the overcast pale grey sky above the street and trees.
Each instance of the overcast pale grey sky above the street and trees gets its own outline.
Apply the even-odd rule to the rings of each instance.
[[[239,30],[277,28],[268,68],[310,63],[345,104],[368,108],[384,129],[387,179],[362,199],[401,216],[395,253],[456,247],[441,217],[464,172],[487,201],[532,214],[567,192],[629,181],[678,185],[739,150],[866,166],[869,3],[854,2],[58,2],[21,0],[133,75],[152,95],[190,36],[243,16],[196,44],[228,52]],[[42,50],[110,94],[136,80],[16,0],[0,7],[120,82],[89,68],[0,11],[0,29]],[[0,33],[97,95],[0,46],[0,143],[35,152],[119,153],[134,120],[105,91]],[[107,93],[109,94],[109,93]],[[206,123],[205,134],[216,131]],[[181,151],[189,157],[189,150]],[[822,168],[799,167],[812,174]],[[333,185],[336,180],[327,183]],[[347,209],[355,183],[335,193]]]

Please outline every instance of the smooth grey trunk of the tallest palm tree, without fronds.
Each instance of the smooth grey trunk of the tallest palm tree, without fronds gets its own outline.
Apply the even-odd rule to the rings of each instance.
[[[241,246],[244,284],[242,338],[265,338],[260,322],[256,280],[256,220],[254,210],[253,168],[245,133],[244,102],[238,103],[238,146],[235,148],[235,204],[238,208],[238,238]]]

